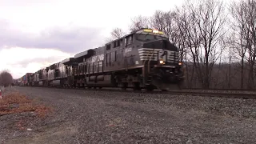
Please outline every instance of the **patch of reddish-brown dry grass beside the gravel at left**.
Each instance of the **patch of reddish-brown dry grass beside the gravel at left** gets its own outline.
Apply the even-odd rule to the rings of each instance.
[[[5,114],[22,113],[34,111],[39,117],[43,118],[51,108],[42,104],[36,104],[32,99],[19,93],[7,94],[0,99],[0,116]]]

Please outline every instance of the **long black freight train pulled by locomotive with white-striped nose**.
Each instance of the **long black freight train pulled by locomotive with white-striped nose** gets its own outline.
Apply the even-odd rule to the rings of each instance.
[[[178,47],[162,31],[142,28],[21,79],[24,86],[170,90],[184,74]]]

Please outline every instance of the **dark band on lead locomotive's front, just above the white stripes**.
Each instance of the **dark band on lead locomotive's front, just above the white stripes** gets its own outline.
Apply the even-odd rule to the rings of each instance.
[[[157,40],[154,42],[146,42],[143,44],[145,48],[157,48],[162,50],[178,50],[174,44],[170,43],[168,40]]]

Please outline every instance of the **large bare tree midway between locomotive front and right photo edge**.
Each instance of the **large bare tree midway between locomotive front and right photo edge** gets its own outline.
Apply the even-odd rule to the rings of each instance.
[[[202,86],[210,87],[211,72],[214,63],[222,53],[219,41],[225,34],[222,30],[225,22],[224,7],[222,2],[214,0],[203,0],[198,6],[190,6],[192,19],[194,21],[194,30],[198,30],[201,44],[196,51],[198,70],[202,75]],[[218,48],[218,46],[220,48]]]

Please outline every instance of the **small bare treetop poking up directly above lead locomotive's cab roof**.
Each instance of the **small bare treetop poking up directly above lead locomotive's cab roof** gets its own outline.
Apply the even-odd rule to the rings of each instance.
[[[131,19],[130,31],[139,30],[142,28],[149,28],[150,22],[149,18],[139,15],[138,17]]]

